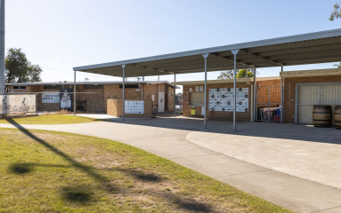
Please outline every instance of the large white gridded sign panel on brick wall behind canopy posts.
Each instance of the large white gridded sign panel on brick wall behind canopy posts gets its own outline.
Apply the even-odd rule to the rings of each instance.
[[[210,89],[208,99],[209,111],[233,112],[233,88]],[[237,112],[248,112],[248,88],[237,88]]]

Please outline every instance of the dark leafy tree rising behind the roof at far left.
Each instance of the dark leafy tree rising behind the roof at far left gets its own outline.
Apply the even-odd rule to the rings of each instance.
[[[4,83],[41,82],[42,68],[28,61],[21,49],[11,48],[4,59]],[[6,87],[5,91],[8,91]]]

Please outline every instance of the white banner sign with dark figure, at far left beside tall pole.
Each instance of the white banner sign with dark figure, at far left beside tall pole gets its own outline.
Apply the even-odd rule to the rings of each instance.
[[[36,95],[0,95],[0,114],[36,112]]]

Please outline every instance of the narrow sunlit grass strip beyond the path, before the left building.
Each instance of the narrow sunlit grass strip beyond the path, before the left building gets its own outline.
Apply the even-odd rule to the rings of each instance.
[[[18,123],[18,124],[71,124],[81,122],[99,122],[96,118],[79,117],[65,114],[49,114],[41,116],[6,118],[0,119],[0,123]]]

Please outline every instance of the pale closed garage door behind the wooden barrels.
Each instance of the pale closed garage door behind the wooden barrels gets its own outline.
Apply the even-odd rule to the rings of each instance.
[[[341,105],[341,83],[296,84],[296,122],[313,123],[313,106]]]

